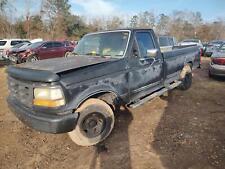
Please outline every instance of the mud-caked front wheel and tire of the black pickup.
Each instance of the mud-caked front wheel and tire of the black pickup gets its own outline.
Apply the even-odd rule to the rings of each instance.
[[[105,140],[114,127],[114,113],[102,100],[88,99],[76,112],[80,113],[76,128],[68,135],[77,145],[96,145]]]

